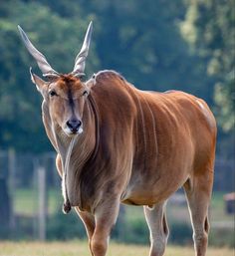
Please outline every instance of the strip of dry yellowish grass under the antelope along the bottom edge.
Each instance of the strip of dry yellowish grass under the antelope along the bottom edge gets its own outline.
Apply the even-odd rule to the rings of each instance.
[[[149,248],[111,243],[108,256],[147,256]],[[86,241],[1,242],[0,256],[91,256]],[[193,248],[168,246],[165,256],[194,256]],[[207,256],[234,256],[228,248],[208,248]]]

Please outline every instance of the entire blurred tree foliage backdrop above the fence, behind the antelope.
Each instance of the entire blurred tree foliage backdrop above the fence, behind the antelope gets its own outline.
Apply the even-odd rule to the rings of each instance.
[[[28,69],[40,72],[20,41],[17,25],[55,70],[68,73],[93,20],[87,78],[114,69],[143,90],[176,89],[203,98],[218,117],[223,151],[231,154],[223,141],[233,129],[232,10],[232,1],[219,0],[1,1],[1,148],[51,149],[41,122],[41,97]]]

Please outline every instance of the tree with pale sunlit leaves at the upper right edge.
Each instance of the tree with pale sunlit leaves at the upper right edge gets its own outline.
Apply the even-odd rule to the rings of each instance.
[[[184,38],[207,64],[214,79],[217,121],[224,132],[235,126],[235,7],[232,0],[189,0],[181,24]]]

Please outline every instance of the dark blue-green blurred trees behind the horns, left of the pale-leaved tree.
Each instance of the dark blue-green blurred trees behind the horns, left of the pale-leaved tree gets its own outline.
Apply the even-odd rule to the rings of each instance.
[[[17,25],[59,72],[70,72],[90,20],[94,20],[87,74],[120,72],[143,90],[177,89],[212,104],[204,62],[189,53],[178,24],[183,0],[74,2],[10,0],[0,6],[0,144],[17,150],[50,148],[41,122],[41,99],[28,69],[38,70],[20,41]],[[41,74],[39,72],[39,74]],[[35,140],[37,136],[37,142]]]

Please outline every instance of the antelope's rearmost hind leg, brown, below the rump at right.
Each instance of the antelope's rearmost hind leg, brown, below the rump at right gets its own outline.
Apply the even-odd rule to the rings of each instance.
[[[193,241],[196,256],[205,256],[208,234],[208,207],[211,197],[213,172],[207,171],[190,177],[184,184],[188,209],[193,227]]]

